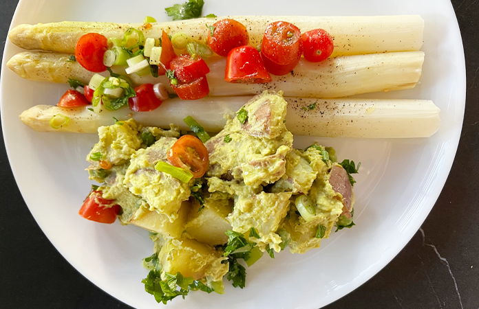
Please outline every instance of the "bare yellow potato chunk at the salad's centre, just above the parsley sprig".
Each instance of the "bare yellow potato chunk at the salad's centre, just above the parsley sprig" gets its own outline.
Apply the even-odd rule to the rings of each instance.
[[[228,242],[226,231],[231,229],[230,222],[226,220],[231,212],[229,201],[206,198],[204,208],[199,212],[198,209],[198,203],[193,205],[187,222],[187,233],[191,238],[211,246]]]

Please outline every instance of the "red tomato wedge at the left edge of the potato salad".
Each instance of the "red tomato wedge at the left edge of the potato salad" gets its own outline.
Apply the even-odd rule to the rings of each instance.
[[[115,200],[103,198],[101,191],[92,191],[83,201],[78,214],[95,222],[113,223],[120,210],[121,207],[115,203]]]

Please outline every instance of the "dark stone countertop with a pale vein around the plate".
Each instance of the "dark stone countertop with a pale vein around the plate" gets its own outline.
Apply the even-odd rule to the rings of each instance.
[[[2,51],[17,2],[0,2]],[[403,251],[328,309],[479,308],[479,1],[452,3],[465,49],[467,104],[451,174]],[[3,137],[0,179],[1,308],[131,308],[96,288],[45,238],[14,181]]]

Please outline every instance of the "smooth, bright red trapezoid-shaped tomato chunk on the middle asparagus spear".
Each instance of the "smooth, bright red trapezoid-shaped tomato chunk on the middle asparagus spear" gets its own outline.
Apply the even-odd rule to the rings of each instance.
[[[226,58],[224,70],[226,82],[244,82],[246,84],[270,82],[271,76],[255,47],[244,45],[231,49]]]

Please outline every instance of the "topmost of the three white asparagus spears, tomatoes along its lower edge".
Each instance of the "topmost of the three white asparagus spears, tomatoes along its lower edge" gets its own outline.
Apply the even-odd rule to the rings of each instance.
[[[162,30],[168,34],[184,32],[194,41],[206,41],[208,28],[215,19],[190,19],[142,24],[88,23],[63,21],[17,25],[8,37],[10,41],[25,49],[43,49],[52,52],[74,52],[76,42],[86,33],[98,32],[107,38],[122,38],[129,27],[142,30],[146,37],[160,38]],[[288,21],[299,27],[301,32],[322,28],[334,38],[332,56],[403,52],[421,49],[423,45],[424,21],[418,15],[397,16],[229,16],[246,26],[250,45],[256,47],[262,40],[266,25],[272,21]]]

